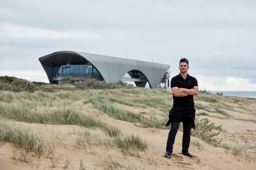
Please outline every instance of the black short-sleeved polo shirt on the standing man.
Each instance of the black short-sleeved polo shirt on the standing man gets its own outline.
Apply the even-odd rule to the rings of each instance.
[[[178,88],[186,88],[192,89],[193,87],[198,86],[197,80],[195,77],[187,76],[186,80],[183,79],[181,73],[177,76],[174,76],[171,79],[171,88],[178,87]],[[173,95],[173,107],[175,108],[194,108],[194,97],[192,95],[188,95],[185,97],[175,97]]]

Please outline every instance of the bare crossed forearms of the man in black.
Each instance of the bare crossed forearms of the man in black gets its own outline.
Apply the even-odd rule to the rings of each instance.
[[[198,95],[199,87],[194,86],[192,89],[172,87],[171,90],[175,97],[185,97],[188,95]]]

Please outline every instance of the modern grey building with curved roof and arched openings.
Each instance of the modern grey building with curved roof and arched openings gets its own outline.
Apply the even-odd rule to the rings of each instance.
[[[105,80],[107,83],[122,80],[150,88],[163,87],[164,83],[165,87],[170,87],[170,72],[167,72],[170,65],[167,64],[74,51],[54,52],[40,57],[39,61],[53,84],[70,78],[75,81]]]

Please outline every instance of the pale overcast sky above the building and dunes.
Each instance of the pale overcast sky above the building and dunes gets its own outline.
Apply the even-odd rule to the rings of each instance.
[[[1,0],[0,76],[49,83],[38,58],[72,50],[171,66],[199,89],[256,90],[256,0]]]

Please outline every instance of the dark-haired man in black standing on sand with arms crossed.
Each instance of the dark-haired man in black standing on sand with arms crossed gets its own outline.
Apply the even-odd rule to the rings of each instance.
[[[171,79],[171,90],[173,92],[173,107],[169,113],[169,121],[165,126],[171,124],[168,134],[166,153],[164,157],[171,158],[175,136],[178,132],[180,122],[183,123],[182,154],[194,157],[188,152],[191,128],[195,128],[195,104],[194,95],[198,95],[199,88],[196,78],[188,75],[188,60],[181,59],[180,74]]]

